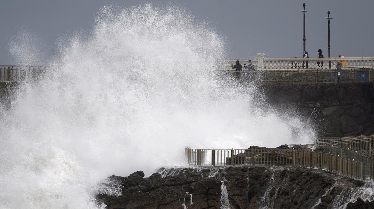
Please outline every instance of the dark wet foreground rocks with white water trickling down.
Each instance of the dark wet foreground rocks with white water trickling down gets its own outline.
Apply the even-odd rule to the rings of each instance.
[[[341,208],[353,207],[362,182],[300,167],[162,168],[144,178],[141,171],[119,182],[118,197],[98,194],[107,208]],[[224,199],[222,186],[227,188]],[[354,195],[353,195],[354,194]],[[367,194],[362,194],[366,197]],[[356,199],[354,199],[356,197]],[[369,197],[371,198],[371,197]],[[372,202],[358,202],[369,206]],[[224,207],[222,207],[224,208]]]

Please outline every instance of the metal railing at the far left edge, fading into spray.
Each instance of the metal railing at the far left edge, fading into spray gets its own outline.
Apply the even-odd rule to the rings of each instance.
[[[0,82],[40,79],[48,65],[0,65]]]

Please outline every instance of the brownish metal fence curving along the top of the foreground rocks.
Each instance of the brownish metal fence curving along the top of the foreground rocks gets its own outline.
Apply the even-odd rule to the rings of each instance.
[[[193,166],[300,166],[323,169],[362,181],[374,180],[373,159],[367,162],[367,159],[345,149],[331,149],[327,152],[295,149],[208,150],[187,147],[185,154],[188,164]]]

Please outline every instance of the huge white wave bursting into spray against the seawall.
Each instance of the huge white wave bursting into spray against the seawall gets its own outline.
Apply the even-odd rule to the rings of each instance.
[[[107,176],[187,166],[184,147],[307,143],[312,127],[261,108],[255,84],[218,79],[225,38],[179,6],[104,7],[39,82],[0,107],[0,208],[102,208]],[[27,34],[18,63],[42,60]],[[289,116],[291,115],[291,116]],[[297,132],[297,138],[295,136]]]

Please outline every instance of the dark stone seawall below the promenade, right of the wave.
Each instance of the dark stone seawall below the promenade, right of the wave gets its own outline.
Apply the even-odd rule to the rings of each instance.
[[[374,133],[374,83],[261,84],[267,104],[312,120],[318,136]]]

